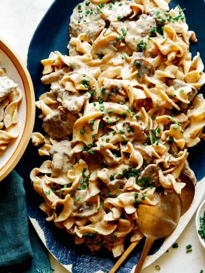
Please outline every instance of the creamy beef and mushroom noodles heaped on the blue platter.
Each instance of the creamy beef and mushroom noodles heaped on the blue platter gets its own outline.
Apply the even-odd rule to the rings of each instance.
[[[50,159],[31,171],[47,221],[91,251],[114,257],[143,235],[140,204],[157,188],[180,194],[184,171],[196,183],[187,148],[205,139],[205,83],[192,58],[185,9],[165,0],[91,0],[70,20],[69,56],[51,52],[36,102],[46,135],[32,143]]]

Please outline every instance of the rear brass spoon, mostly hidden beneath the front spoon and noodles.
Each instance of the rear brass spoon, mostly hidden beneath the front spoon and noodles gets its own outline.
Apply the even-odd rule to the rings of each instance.
[[[189,209],[190,205],[192,204],[194,195],[195,195],[195,186],[192,179],[184,172],[181,172],[180,175],[181,182],[186,183],[186,186],[182,189],[181,195],[179,195],[181,200],[181,215],[183,215]],[[178,201],[178,199],[177,199]],[[128,257],[131,251],[135,248],[138,242],[133,242],[131,245],[126,249],[123,255],[119,258],[117,263],[113,266],[109,273],[114,273],[117,269],[121,266],[124,260]]]

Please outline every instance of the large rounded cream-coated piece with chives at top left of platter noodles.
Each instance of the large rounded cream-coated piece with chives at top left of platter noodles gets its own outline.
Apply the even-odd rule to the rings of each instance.
[[[105,21],[94,4],[86,5],[84,1],[74,8],[69,27],[70,38],[77,37],[79,33],[86,33],[88,39],[93,42],[104,29]]]

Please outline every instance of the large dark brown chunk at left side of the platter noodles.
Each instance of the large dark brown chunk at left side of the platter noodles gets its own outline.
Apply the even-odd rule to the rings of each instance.
[[[77,115],[69,113],[63,107],[58,108],[53,115],[47,115],[43,120],[43,129],[51,137],[62,138],[72,134]]]

